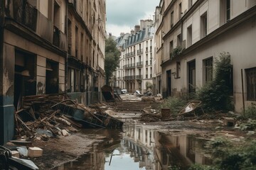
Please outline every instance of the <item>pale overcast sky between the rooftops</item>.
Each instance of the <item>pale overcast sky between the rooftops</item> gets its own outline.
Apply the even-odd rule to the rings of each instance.
[[[129,33],[142,19],[152,19],[160,0],[106,0],[107,33]]]

